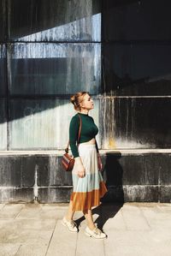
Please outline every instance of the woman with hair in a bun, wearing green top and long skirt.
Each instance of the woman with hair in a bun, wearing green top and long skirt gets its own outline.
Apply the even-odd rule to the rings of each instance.
[[[70,197],[68,212],[62,219],[62,224],[69,231],[78,232],[74,223],[74,211],[83,211],[87,223],[85,235],[95,238],[105,238],[106,235],[97,229],[93,223],[91,207],[100,205],[100,198],[107,192],[101,174],[102,161],[98,152],[96,135],[98,128],[89,110],[94,108],[92,98],[88,92],[77,92],[71,97],[77,114],[71,119],[69,126],[69,142],[74,156],[74,169],[72,170],[74,191]],[[82,122],[80,141],[77,139]]]

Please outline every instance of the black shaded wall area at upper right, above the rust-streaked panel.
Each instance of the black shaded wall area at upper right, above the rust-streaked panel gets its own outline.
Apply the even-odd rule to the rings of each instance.
[[[168,0],[103,0],[103,92],[170,95],[170,7]]]

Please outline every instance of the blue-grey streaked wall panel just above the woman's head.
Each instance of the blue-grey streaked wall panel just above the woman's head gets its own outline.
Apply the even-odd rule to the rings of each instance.
[[[10,93],[95,94],[101,79],[100,44],[9,45]]]

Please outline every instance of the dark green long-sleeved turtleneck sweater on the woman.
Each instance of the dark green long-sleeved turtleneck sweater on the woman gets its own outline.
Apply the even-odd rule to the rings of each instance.
[[[82,126],[80,131],[79,143],[87,142],[92,138],[95,138],[95,136],[98,133],[98,128],[93,118],[91,116],[88,116],[88,114],[77,113],[75,116],[72,117],[69,125],[69,144],[70,144],[71,152],[74,158],[79,157],[77,140],[78,140],[79,128],[80,128],[80,118],[82,121]],[[98,152],[97,141],[96,141],[96,149]]]

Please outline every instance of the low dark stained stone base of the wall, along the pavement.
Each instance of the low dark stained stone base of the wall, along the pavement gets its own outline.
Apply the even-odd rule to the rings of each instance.
[[[171,202],[171,151],[103,152],[103,202]],[[21,152],[0,156],[0,202],[68,202],[71,173],[56,153]]]

